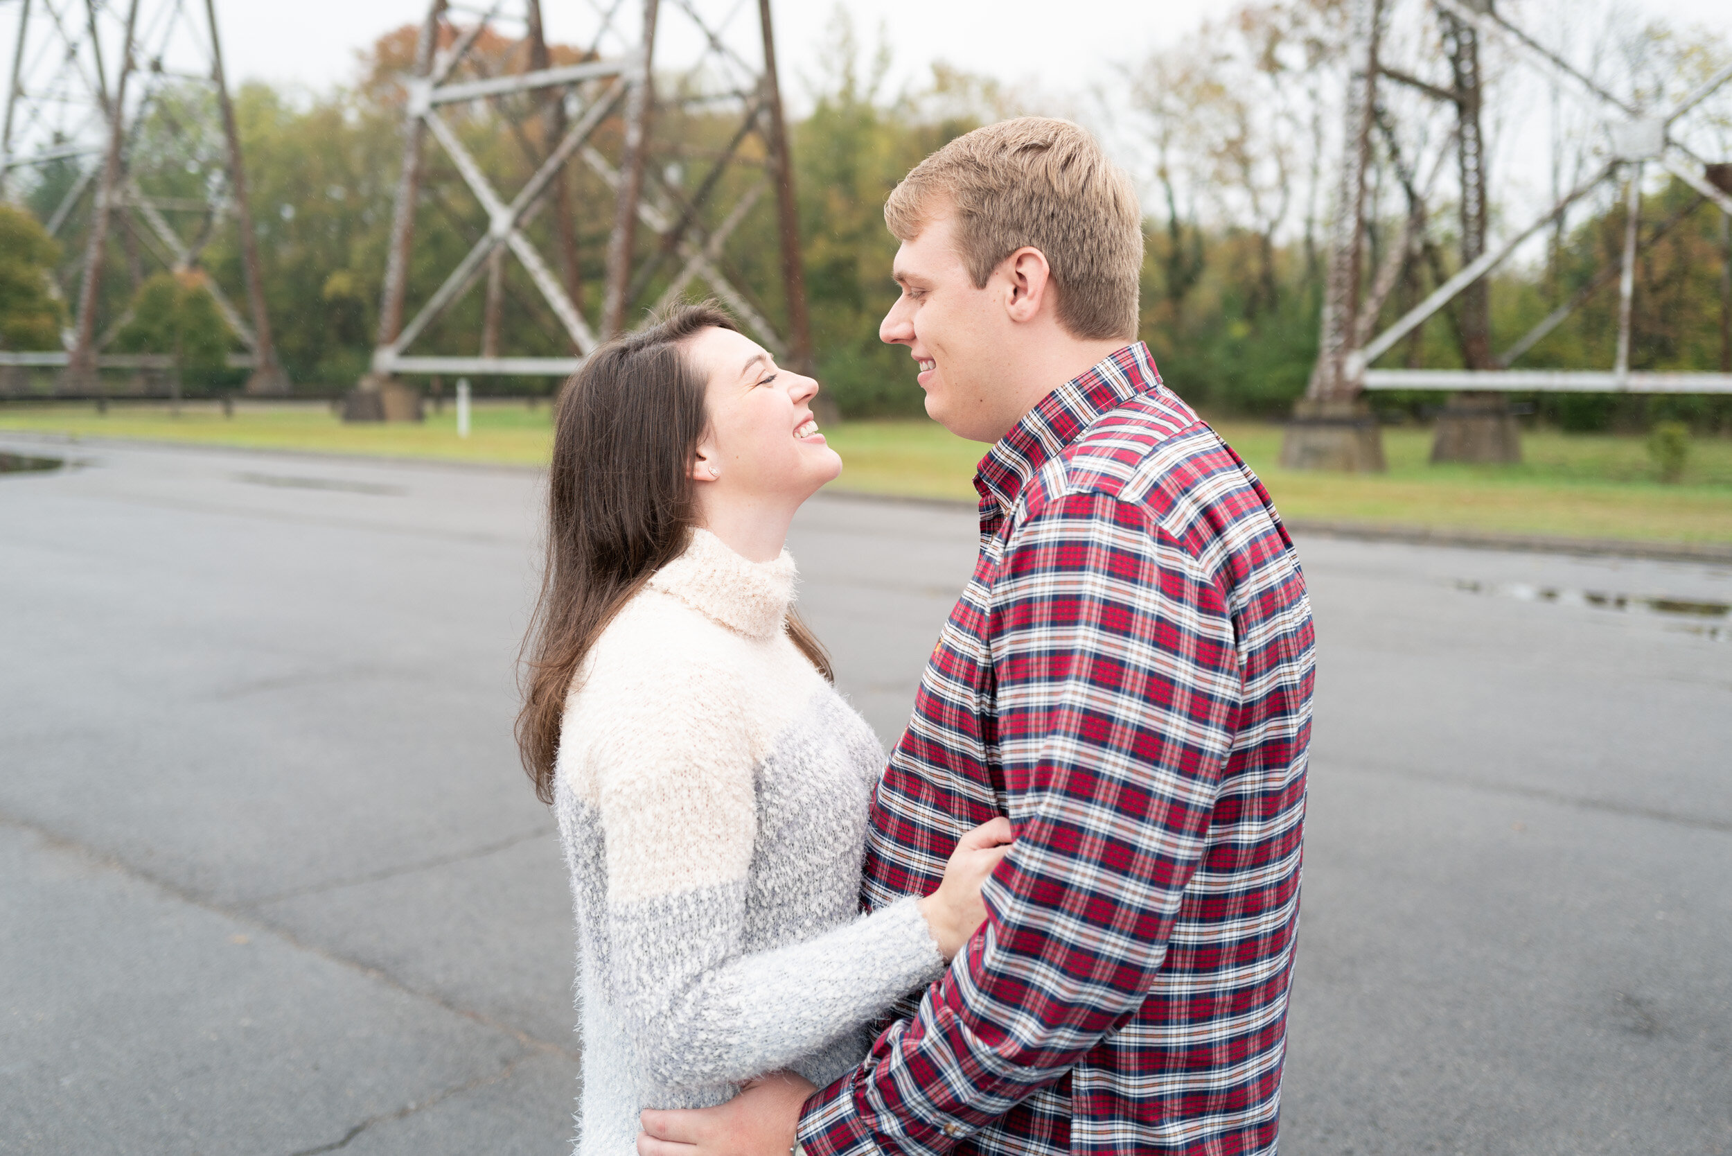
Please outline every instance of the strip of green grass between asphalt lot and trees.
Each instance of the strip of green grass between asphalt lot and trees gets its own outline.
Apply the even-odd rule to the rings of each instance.
[[[445,458],[542,464],[547,409],[523,402],[475,407],[459,438],[452,407],[424,425],[343,425],[322,406],[241,402],[234,418],[189,404],[178,418],[161,404],[9,404],[0,430],[121,437],[256,449]],[[1697,438],[1684,482],[1661,485],[1642,438],[1538,432],[1522,437],[1519,466],[1432,466],[1431,433],[1384,432],[1389,473],[1294,473],[1278,468],[1280,428],[1223,421],[1221,435],[1268,484],[1292,520],[1379,522],[1569,537],[1732,544],[1732,440]],[[828,430],[847,470],[837,489],[973,501],[973,468],[986,445],[925,421],[854,421]]]

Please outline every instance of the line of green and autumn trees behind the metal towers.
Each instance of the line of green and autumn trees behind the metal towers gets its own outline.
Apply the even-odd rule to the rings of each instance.
[[[882,38],[863,43],[838,16],[809,76],[785,76],[785,88],[805,83],[805,113],[790,123],[805,284],[816,369],[847,416],[914,416],[920,390],[901,350],[878,341],[878,321],[895,289],[890,262],[895,239],[883,227],[882,205],[914,163],[946,140],[1006,114],[1062,113],[1095,127],[1145,187],[1147,258],[1141,336],[1164,378],[1195,404],[1219,414],[1282,416],[1304,390],[1316,354],[1318,310],[1327,257],[1327,213],[1334,180],[1341,68],[1346,45],[1339,0],[1247,3],[1179,43],[1119,68],[1095,90],[1063,97],[1031,95],[992,80],[937,66],[930,76],[892,92],[889,50]],[[414,49],[414,29],[381,36],[364,55],[357,83],[320,94],[291,94],[248,83],[236,94],[255,229],[265,274],[267,307],[279,357],[289,378],[308,392],[346,388],[365,373],[379,308],[379,284],[397,185],[404,88],[398,76]],[[1439,50],[1419,26],[1403,33],[1403,50],[1424,68]],[[1626,87],[1677,88],[1727,59],[1725,45],[1678,36],[1656,26],[1625,29],[1626,52],[1606,68]],[[1637,45],[1630,49],[1630,45]],[[518,47],[483,45],[501,69]],[[1401,49],[1401,45],[1398,45]],[[483,54],[485,59],[485,54]],[[554,49],[554,62],[578,59]],[[1420,166],[1441,166],[1446,135],[1417,95],[1386,85],[1386,130],[1373,158],[1373,192],[1367,279],[1393,246],[1412,244],[1399,262],[1377,321],[1387,324],[1422,300],[1458,267],[1446,222],[1448,182],[1439,182],[1427,211],[1424,244],[1408,232],[1412,191]],[[152,196],[191,198],[196,165],[220,140],[206,139],[185,102],[197,92],[171,94],[133,144],[133,175]],[[182,104],[177,104],[182,102]],[[1432,116],[1432,120],[1427,120]],[[1732,130],[1732,118],[1720,113]],[[464,125],[466,142],[499,184],[527,177],[544,139],[490,130],[494,121]],[[1720,123],[1720,121],[1713,121]],[[610,128],[603,128],[603,133]],[[722,118],[686,118],[672,132],[693,154],[719,146],[729,132]],[[1732,132],[1722,146],[1732,159]],[[1578,158],[1554,156],[1557,180]],[[430,149],[428,165],[447,165]],[[696,166],[693,166],[696,168]],[[578,175],[573,180],[594,177]],[[516,177],[513,177],[516,175]],[[662,173],[667,180],[693,180]],[[0,208],[0,347],[54,348],[64,307],[43,279],[59,267],[71,284],[68,253],[81,253],[76,236],[55,246],[35,220],[45,218],[76,180],[71,161],[43,166],[26,191],[24,210]],[[428,182],[417,206],[410,302],[424,300],[459,257],[481,236],[485,215],[456,182]],[[573,187],[578,203],[604,203],[599,185]],[[585,201],[589,198],[589,201]],[[1495,206],[1496,208],[1496,206]],[[1510,213],[1516,208],[1509,208]],[[549,213],[530,225],[551,237]],[[1723,217],[1682,182],[1651,184],[1642,196],[1645,231],[1658,239],[1637,263],[1632,366],[1635,369],[1723,369],[1732,357],[1727,270],[1732,250]],[[573,269],[563,270],[589,315],[599,312],[610,213],[577,220]],[[1441,227],[1439,227],[1441,225]],[[111,241],[104,291],[113,317],[130,314],[111,348],[171,354],[192,388],[232,388],[225,369],[232,345],[222,321],[201,302],[199,274],[151,274],[126,229]],[[1581,307],[1545,340],[1526,350],[1524,367],[1607,367],[1616,340],[1616,284],[1604,270],[1623,246],[1625,210],[1616,199],[1588,206],[1554,229],[1538,262],[1507,265],[1491,277],[1491,331],[1507,348],[1557,303],[1585,296]],[[731,274],[766,312],[779,317],[781,283],[772,213],[757,213],[736,234]],[[223,284],[241,284],[239,251],[211,234],[203,265]],[[563,354],[566,343],[521,270],[506,276],[506,308],[481,317],[480,293],[469,293],[435,326],[419,348],[475,354],[475,333],[499,328],[499,345],[514,354]],[[1417,329],[1382,364],[1462,366],[1458,326],[1444,310]],[[480,383],[478,383],[480,385]],[[487,383],[504,392],[551,390],[558,383],[518,380]],[[1379,395],[1375,404],[1422,416],[1439,395]],[[1732,404],[1715,397],[1540,395],[1543,419],[1573,430],[1640,428],[1656,419],[1685,419],[1699,430],[1732,430]]]

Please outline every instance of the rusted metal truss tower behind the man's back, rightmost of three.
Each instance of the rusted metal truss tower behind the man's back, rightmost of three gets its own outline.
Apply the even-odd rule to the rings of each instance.
[[[1732,81],[1732,66],[1720,69],[1701,83],[1694,92],[1666,109],[1644,109],[1607,92],[1590,76],[1576,69],[1559,54],[1547,49],[1540,40],[1528,35],[1510,21],[1503,19],[1490,0],[1429,0],[1443,24],[1444,42],[1450,54],[1453,83],[1450,87],[1408,75],[1398,68],[1386,66],[1379,59],[1379,21],[1384,0],[1354,0],[1356,10],[1356,45],[1353,49],[1354,73],[1347,88],[1347,147],[1342,166],[1342,187],[1337,199],[1337,220],[1332,236],[1332,269],[1327,286],[1323,310],[1323,347],[1318,357],[1318,369],[1313,373],[1308,397],[1318,400],[1346,400],[1361,390],[1406,390],[1406,388],[1448,388],[1448,390],[1578,390],[1578,392],[1654,392],[1654,393],[1727,393],[1732,392],[1732,374],[1727,373],[1633,373],[1630,369],[1630,319],[1635,295],[1635,262],[1642,244],[1656,241],[1677,220],[1670,220],[1658,229],[1651,229],[1647,239],[1642,237],[1640,222],[1640,180],[1644,165],[1659,165],[1673,177],[1692,187],[1701,199],[1713,201],[1722,213],[1732,217],[1732,192],[1716,184],[1715,175],[1725,166],[1715,166],[1690,151],[1675,130],[1678,121],[1696,109],[1703,101]],[[1486,243],[1486,172],[1483,142],[1479,140],[1479,62],[1477,47],[1483,42],[1500,42],[1514,52],[1526,66],[1557,81],[1566,92],[1583,101],[1602,120],[1604,140],[1597,156],[1597,168],[1587,180],[1557,198],[1533,220],[1516,229],[1498,244]],[[1368,321],[1380,307],[1384,295],[1399,272],[1399,262],[1412,258],[1420,237],[1415,229],[1424,229],[1425,206],[1420,189],[1415,184],[1410,166],[1396,156],[1401,184],[1406,187],[1412,213],[1408,227],[1398,250],[1387,257],[1396,269],[1382,269],[1370,300],[1361,303],[1360,262],[1365,236],[1365,173],[1372,149],[1372,133],[1377,116],[1368,106],[1377,104],[1375,85],[1379,78],[1417,88],[1439,101],[1458,106],[1457,127],[1451,132],[1451,146],[1460,163],[1462,194],[1462,269],[1443,281],[1425,300],[1408,310],[1382,333],[1372,336]],[[1472,107],[1465,107],[1470,102]],[[1393,135],[1391,135],[1393,140]],[[1488,348],[1479,348],[1479,357],[1469,357],[1469,369],[1370,369],[1370,364],[1387,354],[1398,341],[1413,333],[1429,317],[1446,305],[1464,303],[1464,296],[1481,295],[1486,289],[1484,277],[1500,263],[1509,260],[1533,236],[1554,225],[1573,205],[1602,187],[1607,182],[1623,180],[1625,191],[1625,244],[1623,253],[1611,270],[1574,298],[1561,305],[1545,317],[1535,329],[1510,345],[1502,355],[1490,357]],[[1429,182],[1427,182],[1429,184]],[[1729,182],[1732,184],[1732,182]],[[1697,201],[1701,203],[1701,201]],[[1692,205],[1694,208],[1694,205]],[[1609,371],[1512,371],[1510,364],[1533,348],[1547,333],[1555,329],[1587,296],[1604,288],[1616,277],[1619,283],[1618,312],[1618,354]],[[1467,315],[1477,317],[1476,302],[1465,302],[1470,308]],[[1483,302],[1479,302],[1483,303]],[[1370,317],[1367,315],[1370,314]],[[1472,336],[1464,328],[1464,345]],[[1488,338],[1488,333],[1477,336]],[[1477,348],[1477,345],[1476,345]],[[1477,362],[1477,364],[1476,364]]]

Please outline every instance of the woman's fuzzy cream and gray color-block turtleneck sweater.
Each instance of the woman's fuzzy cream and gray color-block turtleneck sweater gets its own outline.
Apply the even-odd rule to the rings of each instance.
[[[554,811],[578,938],[577,1151],[636,1151],[643,1107],[793,1069],[944,972],[913,899],[859,913],[883,750],[785,633],[793,560],[714,534],[598,640],[559,733]]]

